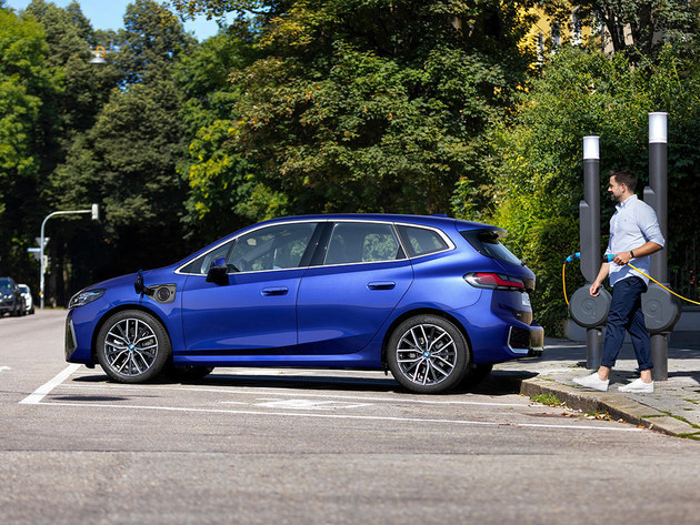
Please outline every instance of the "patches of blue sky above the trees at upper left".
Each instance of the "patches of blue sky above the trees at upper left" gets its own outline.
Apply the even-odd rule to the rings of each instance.
[[[58,7],[64,8],[73,0],[51,0]],[[30,0],[6,0],[4,4],[17,11],[29,6]],[[123,28],[124,12],[132,0],[78,0],[82,13],[90,20],[93,29],[120,29]],[[217,33],[218,26],[207,17],[198,17],[184,22],[184,29],[193,32],[199,40],[204,40]]]

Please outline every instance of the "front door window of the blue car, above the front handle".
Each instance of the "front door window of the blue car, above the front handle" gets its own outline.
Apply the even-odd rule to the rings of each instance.
[[[316,223],[267,226],[238,238],[229,254],[230,271],[260,272],[299,267]]]

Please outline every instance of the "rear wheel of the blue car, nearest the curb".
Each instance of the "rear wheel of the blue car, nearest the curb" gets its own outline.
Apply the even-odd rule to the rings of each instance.
[[[470,350],[463,334],[437,315],[417,315],[391,334],[387,363],[393,377],[419,394],[443,394],[467,374]]]

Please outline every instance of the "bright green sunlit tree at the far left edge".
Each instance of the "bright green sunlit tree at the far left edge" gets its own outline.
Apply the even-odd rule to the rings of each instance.
[[[60,88],[47,51],[41,26],[0,9],[0,273],[21,280],[30,276],[27,224],[40,221],[46,159],[54,148],[52,101]]]

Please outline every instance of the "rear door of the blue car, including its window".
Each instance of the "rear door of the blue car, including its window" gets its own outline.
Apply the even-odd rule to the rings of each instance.
[[[324,253],[299,286],[301,354],[359,352],[413,281],[391,223],[344,221],[328,228]]]

